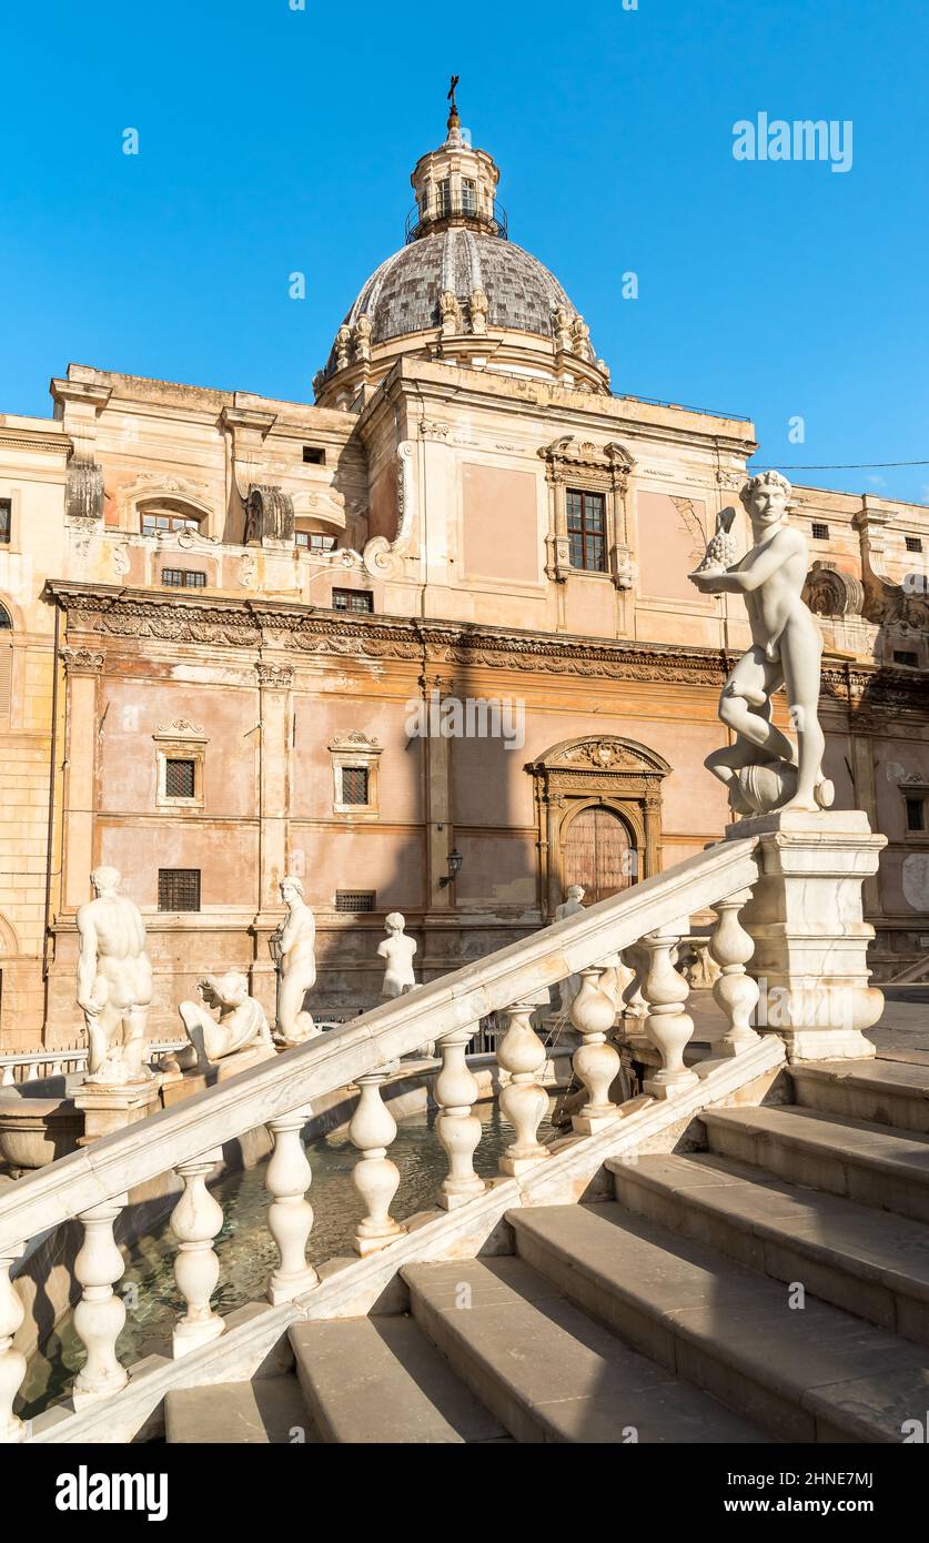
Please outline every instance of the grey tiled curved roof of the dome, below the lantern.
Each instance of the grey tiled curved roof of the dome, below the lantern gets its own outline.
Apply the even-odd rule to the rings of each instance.
[[[454,290],[461,306],[471,292],[488,296],[488,324],[552,336],[552,313],[574,306],[552,273],[529,252],[468,227],[452,225],[401,247],[381,262],[346,316],[353,327],[361,315],[372,324],[372,343],[427,332],[440,322],[438,296]],[[330,355],[326,373],[335,367]]]

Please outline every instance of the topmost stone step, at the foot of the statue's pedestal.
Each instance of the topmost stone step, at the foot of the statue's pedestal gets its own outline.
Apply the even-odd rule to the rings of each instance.
[[[816,1062],[792,1066],[790,1077],[804,1109],[929,1134],[929,1065]]]

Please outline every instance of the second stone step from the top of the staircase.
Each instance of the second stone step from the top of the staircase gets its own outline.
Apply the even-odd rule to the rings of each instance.
[[[710,1151],[929,1222],[929,1137],[798,1105],[704,1109]]]

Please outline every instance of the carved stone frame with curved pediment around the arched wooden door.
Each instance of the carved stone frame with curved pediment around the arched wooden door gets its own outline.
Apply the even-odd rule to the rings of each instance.
[[[639,878],[660,872],[662,781],[671,770],[664,756],[620,734],[585,734],[562,739],[526,770],[534,784],[539,909],[545,921],[563,900],[565,839],[585,809],[602,805],[625,821],[636,844]]]

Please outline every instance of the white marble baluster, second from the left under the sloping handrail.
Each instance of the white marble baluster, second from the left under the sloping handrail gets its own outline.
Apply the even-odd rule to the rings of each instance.
[[[83,1242],[74,1261],[74,1276],[82,1287],[82,1298],[74,1308],[74,1329],[86,1350],[86,1361],[74,1378],[71,1396],[76,1409],[119,1393],[130,1379],[116,1355],[127,1308],[122,1296],[113,1290],[125,1270],[113,1224],[127,1202],[128,1194],[120,1194],[82,1211],[79,1217]]]

